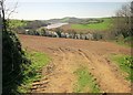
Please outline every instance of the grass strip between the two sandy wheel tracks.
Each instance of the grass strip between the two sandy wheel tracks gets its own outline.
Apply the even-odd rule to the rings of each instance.
[[[78,83],[74,88],[75,93],[100,93],[99,86],[86,67],[78,68],[74,74],[78,76]]]

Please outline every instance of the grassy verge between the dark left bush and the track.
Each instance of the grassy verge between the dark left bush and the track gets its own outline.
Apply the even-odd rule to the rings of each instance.
[[[41,68],[45,66],[50,59],[40,52],[25,52],[25,55],[29,60],[31,60],[31,64],[23,64],[23,80],[21,85],[18,86],[19,93],[29,93],[32,86],[33,81],[41,78]]]

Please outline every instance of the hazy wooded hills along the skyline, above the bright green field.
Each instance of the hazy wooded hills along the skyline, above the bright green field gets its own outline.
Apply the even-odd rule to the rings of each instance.
[[[11,28],[18,27],[25,27],[25,28],[39,28],[39,27],[47,27],[48,24],[52,23],[74,23],[74,24],[90,24],[90,23],[101,23],[105,19],[79,19],[79,18],[62,18],[62,19],[50,19],[50,20],[10,20]]]

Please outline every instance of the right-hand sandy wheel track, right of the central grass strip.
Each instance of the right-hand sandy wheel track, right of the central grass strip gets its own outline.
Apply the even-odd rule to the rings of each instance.
[[[84,53],[80,50],[82,55],[88,60],[91,73],[96,77],[96,81],[105,93],[124,93],[131,92],[130,84],[123,78],[116,76],[114,70],[101,56]],[[112,71],[113,70],[113,71]],[[113,84],[113,85],[112,85]]]

